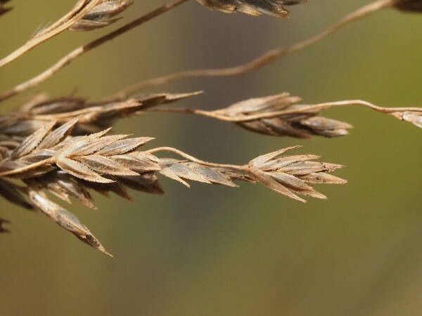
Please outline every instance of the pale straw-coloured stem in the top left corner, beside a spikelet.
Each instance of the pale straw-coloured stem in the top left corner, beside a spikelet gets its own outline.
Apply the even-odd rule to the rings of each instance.
[[[66,13],[63,18],[60,18],[60,20],[53,23],[53,25],[51,25],[50,27],[44,29],[44,31],[40,34],[37,34],[36,36],[32,37],[32,39],[23,44],[23,46],[20,46],[20,48],[18,48],[16,51],[13,51],[13,53],[1,59],[0,67],[7,65],[9,62],[12,62],[24,53],[31,51],[32,48],[38,46],[41,43],[44,43],[44,41],[47,41],[52,37],[55,37],[56,35],[60,34],[61,32],[64,32],[66,29],[75,24],[75,22],[82,19],[84,15],[91,11],[91,9],[94,8],[94,6],[96,6],[101,0],[91,0],[90,2],[88,1],[89,0],[79,0],[79,2],[72,9],[72,11]]]

